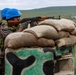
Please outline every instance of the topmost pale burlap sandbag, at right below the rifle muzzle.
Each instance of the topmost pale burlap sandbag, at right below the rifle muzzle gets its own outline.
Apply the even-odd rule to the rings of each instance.
[[[46,19],[41,21],[39,25],[50,25],[53,26],[57,31],[68,31],[71,32],[75,28],[75,23],[68,19]]]

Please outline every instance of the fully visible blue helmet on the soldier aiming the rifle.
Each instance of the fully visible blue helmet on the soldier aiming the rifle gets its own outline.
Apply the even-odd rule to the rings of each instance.
[[[18,9],[10,9],[6,14],[6,20],[20,16],[21,16],[21,12]]]

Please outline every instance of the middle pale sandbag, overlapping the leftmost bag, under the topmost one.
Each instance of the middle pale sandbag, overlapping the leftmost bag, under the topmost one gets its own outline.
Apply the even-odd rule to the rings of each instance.
[[[34,34],[37,38],[47,38],[47,39],[59,39],[59,33],[52,26],[41,25],[32,28],[25,29],[23,32],[30,32]]]

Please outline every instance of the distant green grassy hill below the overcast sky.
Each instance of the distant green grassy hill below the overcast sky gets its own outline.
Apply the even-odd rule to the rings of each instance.
[[[76,15],[76,6],[46,7],[33,10],[21,10],[21,12],[22,17]]]

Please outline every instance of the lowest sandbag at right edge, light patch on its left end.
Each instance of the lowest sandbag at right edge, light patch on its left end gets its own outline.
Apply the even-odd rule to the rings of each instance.
[[[57,46],[72,46],[76,43],[76,36],[70,36],[68,38],[61,38],[56,41]]]

